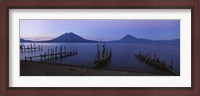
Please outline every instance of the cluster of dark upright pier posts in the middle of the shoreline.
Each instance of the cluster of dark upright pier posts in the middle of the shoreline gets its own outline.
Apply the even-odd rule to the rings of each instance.
[[[108,52],[108,47],[106,48],[106,44],[102,45],[102,54],[101,52],[101,44],[97,45],[97,55],[95,56],[93,67],[102,66],[107,64],[112,57],[112,51],[110,48],[110,52]]]

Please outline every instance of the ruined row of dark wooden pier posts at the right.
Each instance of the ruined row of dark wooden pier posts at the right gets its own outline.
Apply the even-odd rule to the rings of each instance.
[[[168,71],[174,75],[178,75],[173,69],[173,60],[171,60],[171,66],[168,66],[166,64],[166,60],[160,61],[160,59],[156,57],[156,54],[154,54],[154,57],[152,58],[150,53],[142,54],[141,51],[139,54],[135,54],[135,57],[142,62],[153,65],[154,67],[157,67],[163,71]]]

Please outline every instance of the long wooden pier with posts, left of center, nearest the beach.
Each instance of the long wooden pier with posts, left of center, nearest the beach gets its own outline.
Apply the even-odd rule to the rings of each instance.
[[[40,58],[40,61],[48,61],[68,56],[73,56],[78,54],[78,49],[73,49],[72,51],[66,51],[66,46],[64,46],[64,51],[62,51],[62,46],[60,47],[60,52],[57,52],[57,46],[55,49],[48,49],[47,52],[44,52],[43,54],[40,54],[39,56],[25,56],[25,61],[32,61],[33,58]]]

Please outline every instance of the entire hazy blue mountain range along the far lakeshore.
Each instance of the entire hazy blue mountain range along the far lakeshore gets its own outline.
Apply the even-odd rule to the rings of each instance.
[[[99,41],[95,40],[87,40],[82,38],[81,36],[74,34],[74,33],[64,33],[52,40],[48,41],[31,41],[25,40],[20,38],[20,42],[45,42],[45,43],[98,43]],[[135,38],[132,35],[126,35],[119,40],[108,41],[107,43],[152,43],[152,44],[180,44],[180,39],[173,39],[173,40],[150,40],[150,39],[143,39],[143,38]]]

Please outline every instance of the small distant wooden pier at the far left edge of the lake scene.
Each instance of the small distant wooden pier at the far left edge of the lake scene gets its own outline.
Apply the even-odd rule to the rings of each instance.
[[[29,44],[29,45],[20,45],[20,52],[36,52],[36,51],[42,51],[43,46],[42,45],[36,45],[36,44]]]

